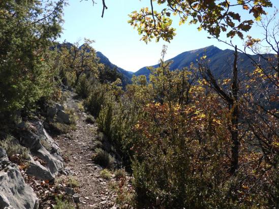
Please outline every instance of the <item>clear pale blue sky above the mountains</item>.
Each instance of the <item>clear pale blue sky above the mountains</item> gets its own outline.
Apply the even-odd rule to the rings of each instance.
[[[214,45],[221,49],[228,48],[214,39],[207,39],[208,33],[198,31],[197,25],[188,23],[178,26],[177,17],[173,17],[176,27],[176,37],[167,43],[152,41],[145,44],[140,40],[136,29],[127,23],[128,14],[142,7],[149,7],[149,0],[106,0],[108,10],[102,14],[102,1],[92,6],[91,0],[69,0],[69,6],[64,10],[64,32],[59,41],[77,42],[84,38],[95,40],[92,44],[97,51],[102,52],[109,60],[127,71],[137,71],[143,66],[157,64],[160,58],[163,44],[168,46],[166,58],[172,58],[184,51],[203,48]],[[279,8],[279,1],[272,0],[274,6]],[[274,9],[273,9],[274,10]],[[273,10],[268,10],[271,13]],[[254,37],[259,37],[261,31],[254,28],[250,32]],[[234,43],[242,45],[239,39]]]

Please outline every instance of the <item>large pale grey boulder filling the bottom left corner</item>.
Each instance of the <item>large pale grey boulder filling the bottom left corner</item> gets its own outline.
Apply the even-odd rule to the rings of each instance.
[[[37,209],[39,201],[33,189],[25,182],[18,166],[11,163],[0,147],[0,208]]]

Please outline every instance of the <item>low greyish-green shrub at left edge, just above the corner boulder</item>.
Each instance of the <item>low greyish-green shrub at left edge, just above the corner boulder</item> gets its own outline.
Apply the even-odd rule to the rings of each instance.
[[[19,159],[19,162],[23,162],[24,160],[29,158],[29,149],[18,144],[17,140],[11,135],[8,135],[4,141],[0,141],[0,146],[3,147],[4,150],[6,150],[6,153],[10,160],[14,156]]]

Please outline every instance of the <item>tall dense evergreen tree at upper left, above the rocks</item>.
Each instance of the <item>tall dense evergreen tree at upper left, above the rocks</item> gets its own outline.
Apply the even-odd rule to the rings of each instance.
[[[49,48],[61,32],[64,4],[12,0],[1,3],[7,14],[13,14],[0,20],[0,112],[11,113],[32,109],[41,97],[52,95],[58,71],[56,52]],[[56,9],[51,13],[52,7]]]

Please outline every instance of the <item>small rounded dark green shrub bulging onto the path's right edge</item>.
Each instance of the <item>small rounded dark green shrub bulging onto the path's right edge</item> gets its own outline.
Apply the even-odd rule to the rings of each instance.
[[[95,152],[96,153],[92,156],[92,160],[95,163],[106,168],[113,167],[114,158],[108,152],[101,148],[96,148]]]

